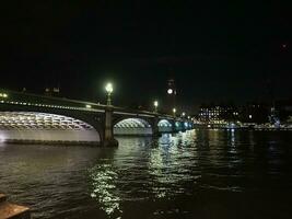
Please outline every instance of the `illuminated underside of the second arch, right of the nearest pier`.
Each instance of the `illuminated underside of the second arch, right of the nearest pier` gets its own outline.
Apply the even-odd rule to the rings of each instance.
[[[141,118],[127,118],[114,126],[114,135],[148,136],[152,135],[152,128]]]

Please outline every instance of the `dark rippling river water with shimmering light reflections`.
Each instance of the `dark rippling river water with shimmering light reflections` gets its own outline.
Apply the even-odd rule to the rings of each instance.
[[[33,218],[291,218],[292,132],[191,130],[118,148],[0,142],[0,192]]]

